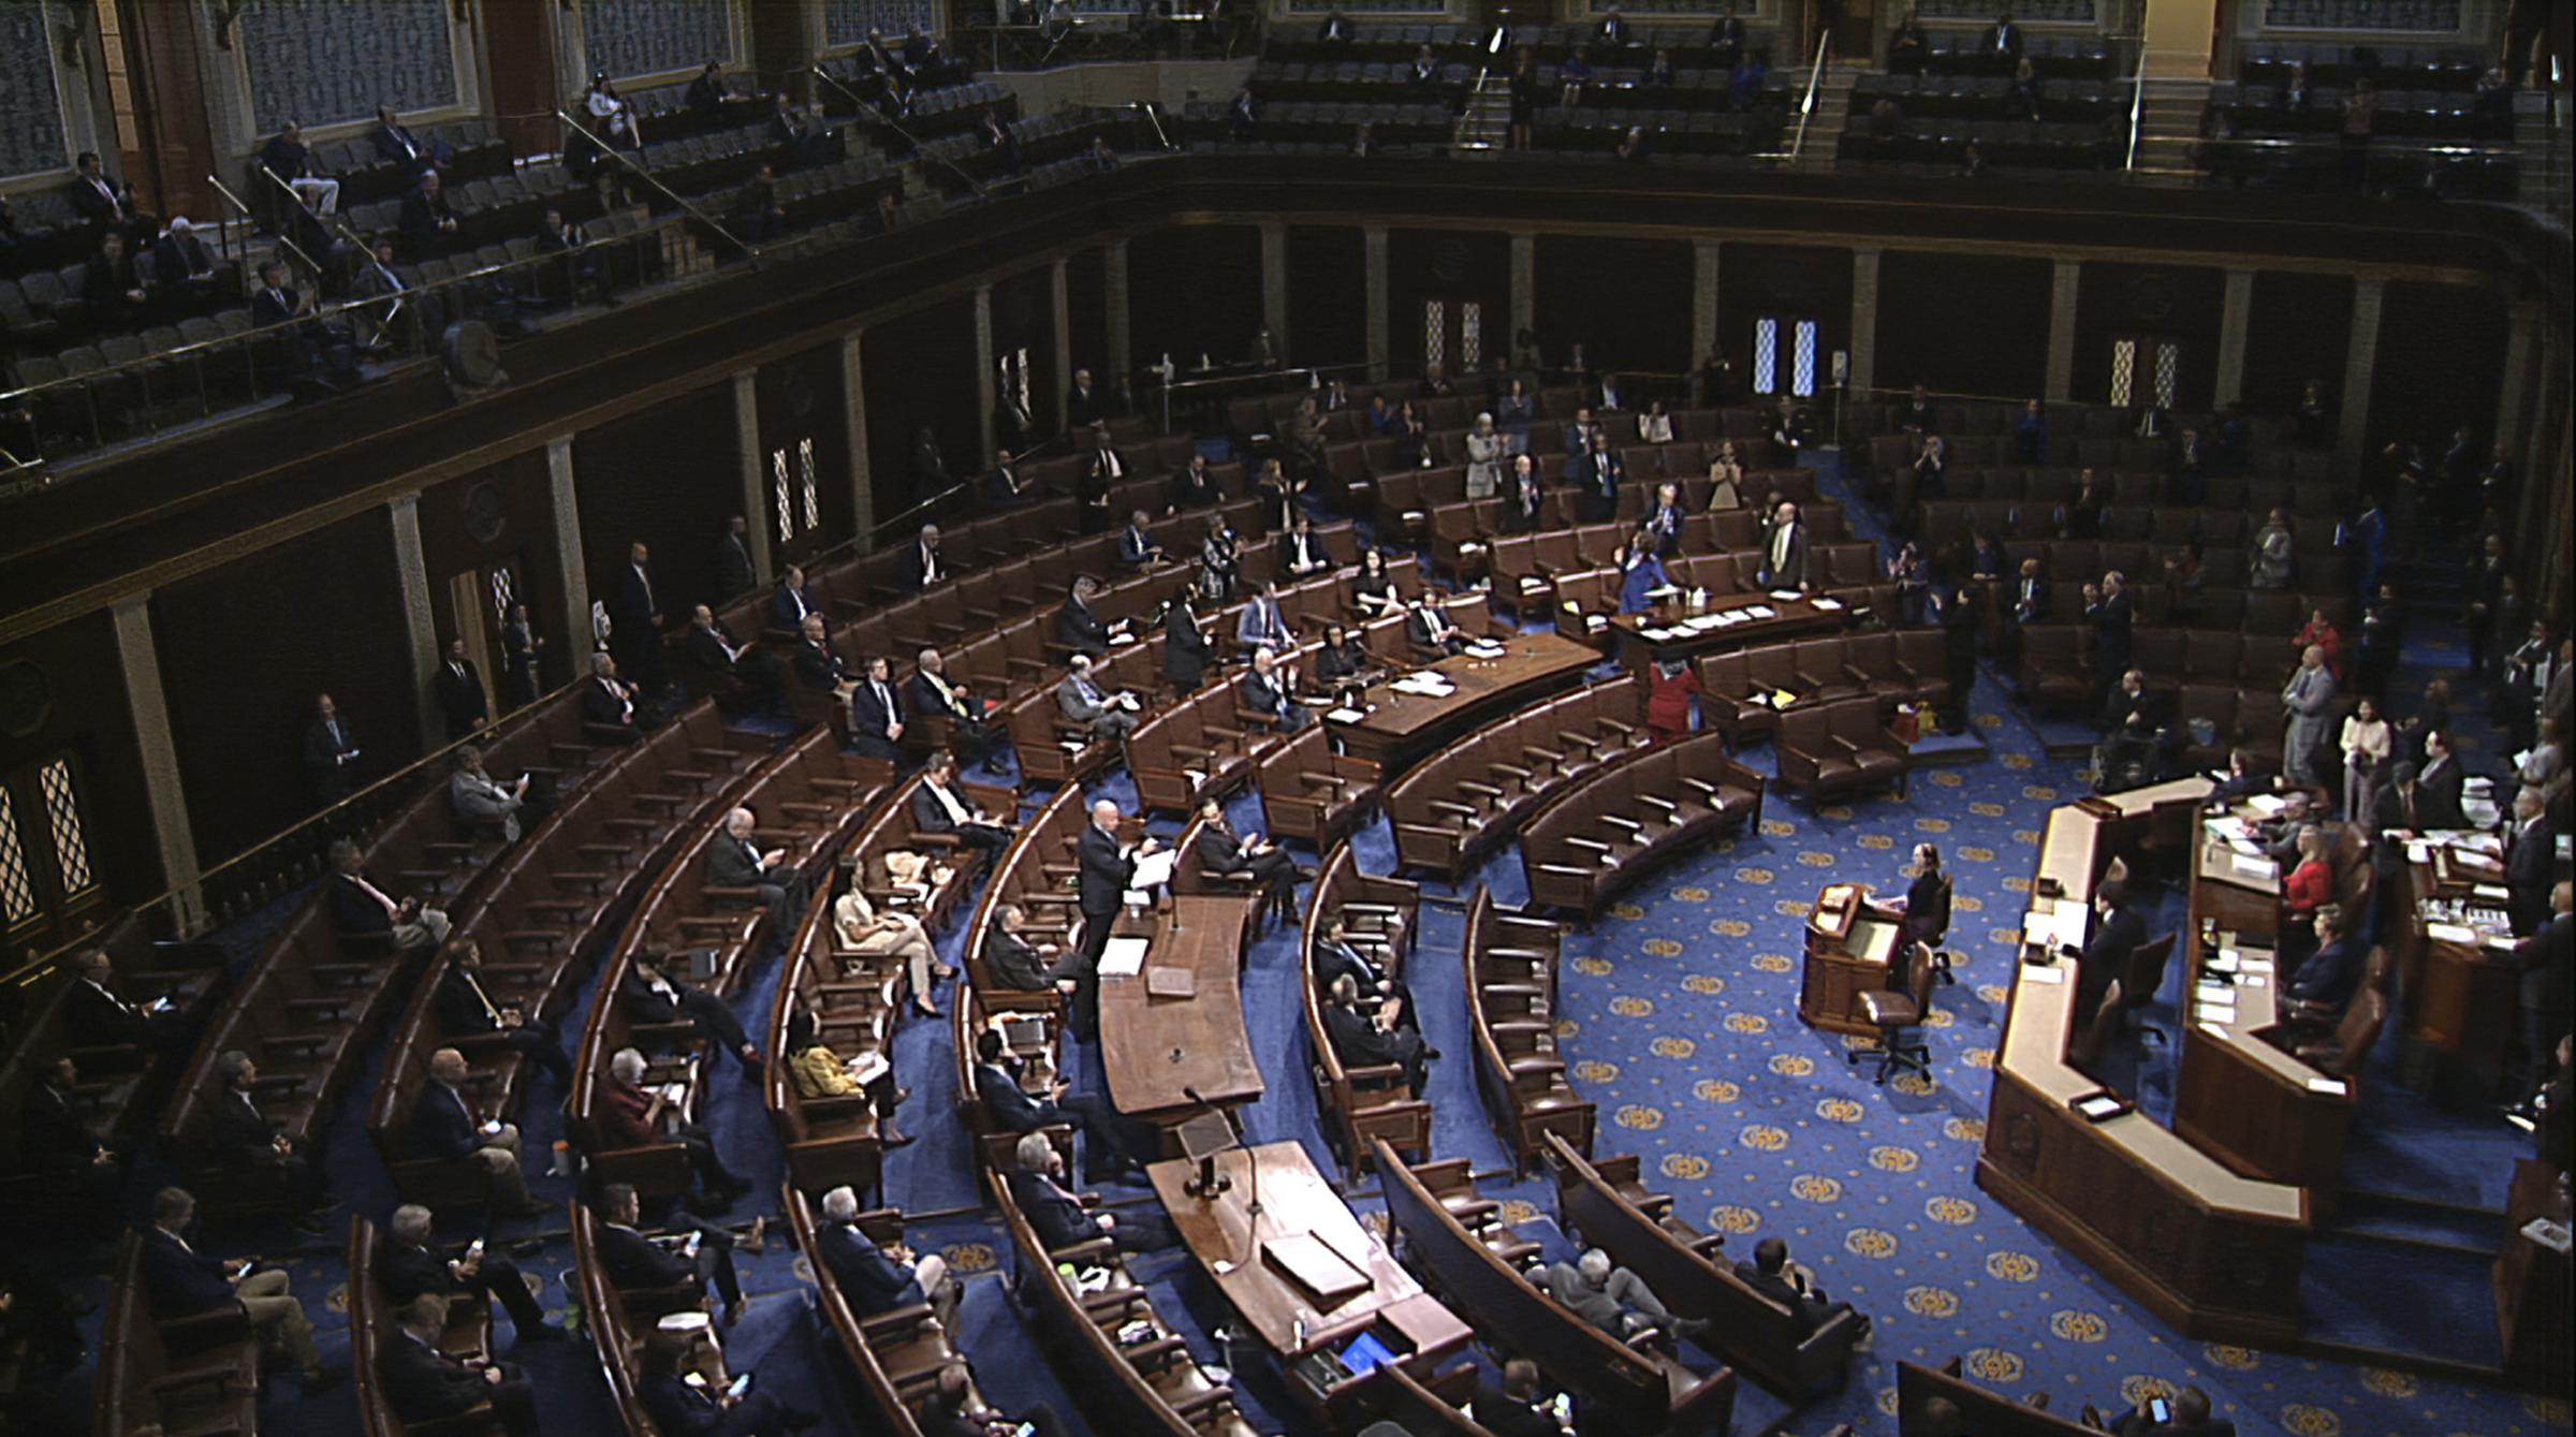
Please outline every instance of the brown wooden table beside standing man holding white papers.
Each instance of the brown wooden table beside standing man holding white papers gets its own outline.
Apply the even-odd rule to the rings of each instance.
[[[1252,1102],[1262,1094],[1244,1030],[1242,950],[1252,899],[1175,896],[1144,922],[1121,917],[1118,932],[1146,940],[1144,971],[1100,979],[1100,1066],[1110,1102],[1128,1118],[1177,1123],[1198,1102]],[[1190,973],[1190,997],[1151,997],[1154,968]]]

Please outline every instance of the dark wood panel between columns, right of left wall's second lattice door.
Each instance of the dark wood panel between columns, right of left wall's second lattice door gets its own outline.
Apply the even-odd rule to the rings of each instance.
[[[925,427],[938,435],[951,476],[981,469],[974,299],[958,296],[868,330],[860,373],[868,384],[868,482],[881,525],[927,500],[912,482],[912,446]]]

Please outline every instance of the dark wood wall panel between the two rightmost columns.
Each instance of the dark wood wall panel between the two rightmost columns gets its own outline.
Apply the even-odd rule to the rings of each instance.
[[[2370,448],[2414,440],[2442,453],[2468,425],[2488,440],[2504,376],[2504,301],[2486,288],[2388,281],[2370,384]],[[2566,394],[2545,402],[2566,402]]]

